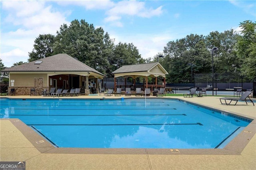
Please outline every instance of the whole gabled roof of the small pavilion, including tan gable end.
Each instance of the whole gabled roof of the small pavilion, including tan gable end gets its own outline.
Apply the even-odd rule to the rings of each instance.
[[[154,77],[162,76],[165,77],[168,72],[162,67],[158,62],[146,63],[146,64],[136,64],[136,65],[124,65],[119,69],[112,72],[115,77],[141,77],[150,76]]]

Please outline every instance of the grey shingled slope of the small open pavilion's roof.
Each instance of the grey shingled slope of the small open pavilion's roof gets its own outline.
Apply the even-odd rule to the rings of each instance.
[[[124,65],[119,69],[113,71],[112,74],[148,71],[149,69],[154,67],[156,64],[157,62],[146,63],[146,64],[136,64],[136,65]]]

